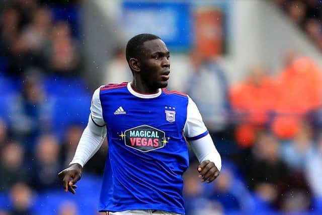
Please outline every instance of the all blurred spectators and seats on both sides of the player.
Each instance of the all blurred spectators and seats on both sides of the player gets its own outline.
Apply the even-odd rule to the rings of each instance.
[[[320,1],[275,2],[322,47]],[[85,166],[75,196],[57,180],[91,102],[78,7],[78,1],[0,3],[0,215],[97,214],[106,142]],[[202,184],[191,154],[187,215],[322,214],[321,68],[292,50],[279,70],[250,65],[244,80],[229,85],[216,59],[195,50],[189,62],[181,90],[197,103],[223,167],[214,183]],[[105,81],[130,80],[118,47]]]

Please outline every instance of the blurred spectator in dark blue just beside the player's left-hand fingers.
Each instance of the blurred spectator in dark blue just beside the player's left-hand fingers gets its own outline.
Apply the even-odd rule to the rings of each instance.
[[[61,168],[59,161],[60,145],[50,134],[40,136],[36,147],[36,159],[33,165],[33,187],[39,191],[57,189],[57,172]]]

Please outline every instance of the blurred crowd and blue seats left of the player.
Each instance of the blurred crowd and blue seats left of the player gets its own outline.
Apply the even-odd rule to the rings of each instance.
[[[1,215],[72,215],[79,205],[86,206],[83,214],[97,211],[98,197],[90,202],[84,189],[70,200],[57,180],[73,156],[91,102],[82,79],[79,19],[78,1],[0,3]],[[93,162],[104,161],[106,146]],[[104,162],[93,162],[88,172],[101,175]],[[86,182],[93,183],[100,178]],[[88,193],[98,196],[98,190]]]

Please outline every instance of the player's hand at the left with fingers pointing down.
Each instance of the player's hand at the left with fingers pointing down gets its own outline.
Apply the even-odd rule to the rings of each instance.
[[[58,173],[58,177],[61,180],[65,192],[69,191],[72,194],[75,194],[75,185],[79,179],[82,178],[83,167],[79,164],[71,164],[67,169],[64,169]]]

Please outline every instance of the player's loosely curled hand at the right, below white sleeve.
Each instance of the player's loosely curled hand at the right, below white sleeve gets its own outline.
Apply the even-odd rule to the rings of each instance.
[[[213,162],[210,162],[209,160],[203,161],[198,166],[198,172],[201,182],[207,181],[207,183],[212,182],[219,175],[219,170],[217,169],[215,164]]]

